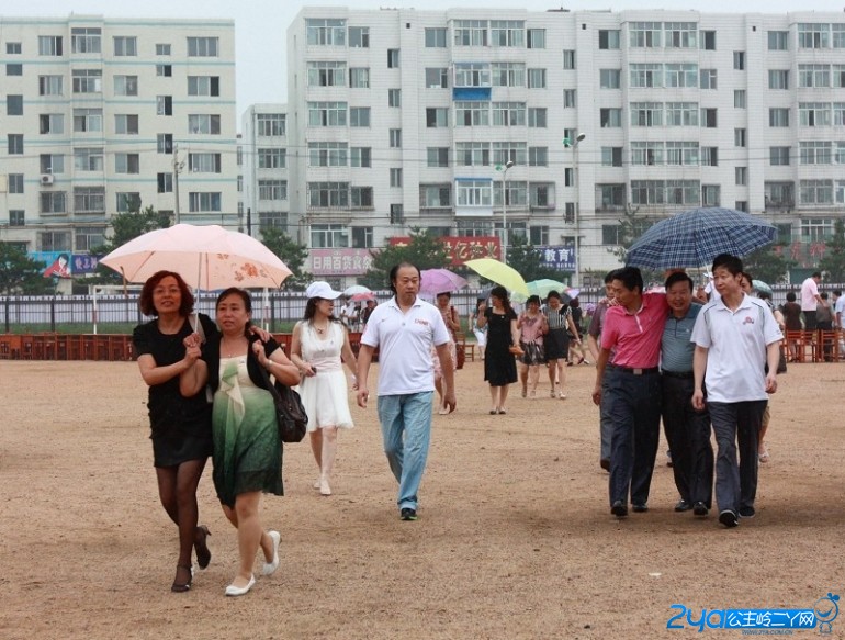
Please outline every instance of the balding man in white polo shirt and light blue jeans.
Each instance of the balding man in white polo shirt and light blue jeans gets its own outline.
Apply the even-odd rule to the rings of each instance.
[[[450,412],[455,407],[449,332],[437,307],[417,297],[419,280],[414,265],[403,262],[391,269],[394,296],[373,310],[358,353],[358,406],[367,408],[367,377],[379,347],[379,422],[387,462],[399,483],[403,520],[417,519],[417,492],[431,439],[432,346],[446,377],[443,404]]]

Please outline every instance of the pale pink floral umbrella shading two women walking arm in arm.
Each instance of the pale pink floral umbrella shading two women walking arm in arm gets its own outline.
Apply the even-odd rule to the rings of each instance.
[[[291,270],[257,239],[218,225],[178,224],[117,247],[100,260],[128,282],[146,282],[156,271],[179,273],[193,289],[279,289]]]

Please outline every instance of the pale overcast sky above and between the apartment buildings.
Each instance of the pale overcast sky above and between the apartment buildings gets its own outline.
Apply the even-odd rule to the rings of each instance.
[[[545,11],[564,7],[622,11],[626,9],[695,9],[708,12],[789,11],[842,12],[845,0],[367,0],[316,1],[303,0],[29,0],[0,2],[0,15],[66,16],[70,13],[95,13],[114,18],[229,18],[235,20],[237,38],[237,103],[238,121],[250,104],[284,102],[286,99],[284,35],[296,13],[306,5],[340,5],[354,9],[417,8],[444,10],[453,7],[491,8],[519,7],[529,11]]]

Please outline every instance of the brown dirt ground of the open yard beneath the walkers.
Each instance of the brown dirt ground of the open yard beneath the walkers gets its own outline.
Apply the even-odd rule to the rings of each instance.
[[[176,529],[136,364],[0,361],[0,637],[677,638],[696,631],[667,630],[673,604],[697,616],[845,596],[845,364],[781,375],[757,517],[733,530],[673,512],[665,443],[650,512],[610,516],[595,369],[567,374],[567,400],[514,386],[508,415],[491,416],[482,363],[467,362],[458,412],[435,416],[416,523],[397,517],[374,406],[341,434],[330,497],[311,486],[307,443],[288,446],[286,495],[261,515],[282,532],[281,569],[226,598],[236,537],[211,463],[200,520],[212,563],[190,593],[169,591]],[[845,636],[845,619],[833,631]]]

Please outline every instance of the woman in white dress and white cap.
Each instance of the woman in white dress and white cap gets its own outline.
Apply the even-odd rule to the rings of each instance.
[[[305,319],[293,329],[291,360],[302,372],[300,395],[308,414],[311,449],[319,467],[314,489],[331,495],[329,479],[337,454],[337,430],[353,426],[343,363],[354,381],[357,362],[346,327],[334,316],[340,292],[328,282],[317,281],[305,294]]]

